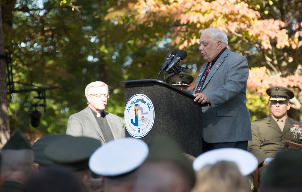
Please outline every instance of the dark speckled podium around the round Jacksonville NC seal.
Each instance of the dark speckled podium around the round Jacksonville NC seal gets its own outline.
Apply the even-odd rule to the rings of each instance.
[[[178,142],[185,153],[194,157],[202,153],[201,107],[207,104],[194,102],[193,95],[160,80],[130,80],[120,85],[125,87],[125,105],[136,94],[147,96],[153,103],[153,126],[140,139],[149,143],[155,136],[165,134]],[[132,137],[127,130],[126,137]]]

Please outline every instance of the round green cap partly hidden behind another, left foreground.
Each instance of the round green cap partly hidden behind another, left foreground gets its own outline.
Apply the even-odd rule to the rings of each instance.
[[[50,134],[38,139],[32,145],[34,151],[34,162],[40,165],[48,166],[52,164],[52,161],[48,160],[44,155],[44,149],[51,142],[54,142],[57,139],[64,137],[72,137],[71,135],[66,134]]]

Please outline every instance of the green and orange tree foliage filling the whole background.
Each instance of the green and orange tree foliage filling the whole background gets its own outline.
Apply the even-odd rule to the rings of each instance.
[[[300,1],[4,0],[1,5],[5,52],[14,81],[25,83],[15,90],[62,86],[47,91],[41,135],[66,131],[68,117],[86,106],[83,90],[92,81],[109,84],[106,110],[123,116],[120,82],[156,78],[171,50],[187,51],[181,64],[196,78],[205,63],[198,50],[200,32],[209,27],[226,32],[228,48],[248,60],[251,120],[269,114],[265,90],[273,85],[294,91],[292,108],[302,120]],[[8,94],[11,127],[37,131],[27,116],[34,96]]]

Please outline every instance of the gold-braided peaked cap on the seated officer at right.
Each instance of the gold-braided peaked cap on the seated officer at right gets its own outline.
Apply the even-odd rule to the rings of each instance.
[[[271,86],[266,89],[266,93],[270,96],[270,101],[286,101],[295,96],[291,89],[281,86]]]

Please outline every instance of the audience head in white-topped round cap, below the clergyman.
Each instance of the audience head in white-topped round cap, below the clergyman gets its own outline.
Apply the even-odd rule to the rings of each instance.
[[[91,171],[103,176],[104,192],[131,192],[137,168],[148,156],[148,145],[126,137],[99,147],[89,159]]]

